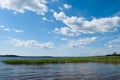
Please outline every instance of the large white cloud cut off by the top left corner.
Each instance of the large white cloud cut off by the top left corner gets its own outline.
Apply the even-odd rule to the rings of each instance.
[[[44,15],[48,11],[46,3],[46,0],[0,0],[0,7],[19,13],[29,10]]]

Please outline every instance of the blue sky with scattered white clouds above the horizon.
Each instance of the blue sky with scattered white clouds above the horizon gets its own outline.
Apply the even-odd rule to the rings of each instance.
[[[120,53],[120,0],[0,0],[0,55]]]

